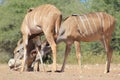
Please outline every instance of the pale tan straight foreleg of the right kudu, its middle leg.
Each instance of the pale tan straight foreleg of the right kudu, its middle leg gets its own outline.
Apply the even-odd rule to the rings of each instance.
[[[79,65],[79,68],[80,68],[80,72],[82,72],[80,43],[78,41],[75,41],[74,44],[75,44],[76,56],[77,56],[77,59],[78,59],[78,65]]]

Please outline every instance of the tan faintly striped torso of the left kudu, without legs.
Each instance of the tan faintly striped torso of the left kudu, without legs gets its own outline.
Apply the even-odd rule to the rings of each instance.
[[[47,32],[46,30],[54,32],[54,27],[59,17],[61,17],[61,12],[50,4],[29,9],[23,20],[21,31],[23,34],[25,34],[26,31],[29,35]],[[59,20],[61,22],[61,19]],[[50,26],[50,28],[48,28],[48,26]],[[56,27],[57,29],[59,28],[59,26]]]

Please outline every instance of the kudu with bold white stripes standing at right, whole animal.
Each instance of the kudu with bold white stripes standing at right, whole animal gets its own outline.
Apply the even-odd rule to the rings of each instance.
[[[66,58],[71,50],[70,47],[73,42],[75,43],[76,47],[78,64],[81,66],[79,42],[100,41],[107,52],[105,72],[108,73],[112,57],[110,40],[114,28],[114,17],[105,12],[94,12],[84,15],[72,15],[66,18],[66,20],[62,23],[60,27],[59,36],[57,38],[57,43],[61,41],[64,41],[66,43],[66,51],[61,71],[64,71]]]

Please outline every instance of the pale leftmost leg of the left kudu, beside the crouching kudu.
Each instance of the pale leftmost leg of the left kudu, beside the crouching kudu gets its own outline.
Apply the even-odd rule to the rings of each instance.
[[[26,66],[26,60],[27,60],[27,45],[28,45],[28,36],[23,35],[23,43],[24,43],[24,56],[23,56],[23,60],[22,60],[22,68],[21,68],[21,72],[24,71],[25,66]]]

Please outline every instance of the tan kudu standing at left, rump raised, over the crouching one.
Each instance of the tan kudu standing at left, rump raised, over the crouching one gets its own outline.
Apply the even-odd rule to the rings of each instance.
[[[21,32],[23,35],[24,43],[24,58],[22,61],[22,69],[26,66],[27,59],[27,46],[28,41],[31,35],[43,34],[45,35],[48,43],[51,46],[53,53],[53,68],[52,71],[56,70],[56,43],[55,37],[58,34],[58,30],[61,24],[62,14],[61,12],[53,5],[45,4],[37,8],[34,8],[32,11],[28,12],[25,15],[21,26]],[[38,54],[38,46],[41,44],[39,37],[36,36],[36,49]]]

